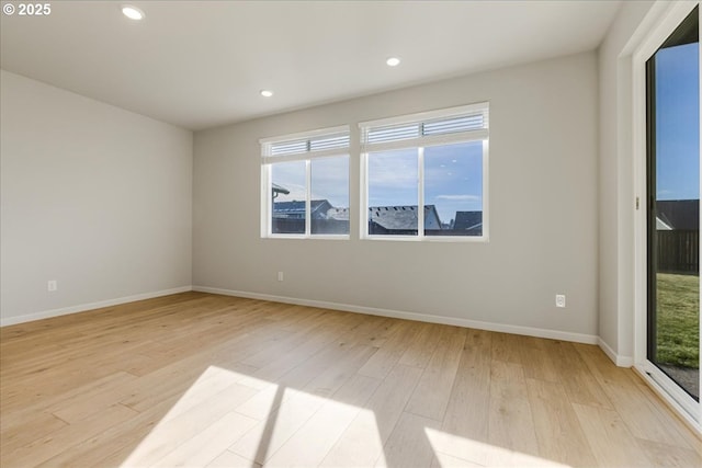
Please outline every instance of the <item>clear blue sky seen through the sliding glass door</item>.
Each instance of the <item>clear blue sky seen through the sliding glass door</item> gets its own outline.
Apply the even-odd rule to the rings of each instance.
[[[658,199],[700,198],[699,43],[656,54]]]

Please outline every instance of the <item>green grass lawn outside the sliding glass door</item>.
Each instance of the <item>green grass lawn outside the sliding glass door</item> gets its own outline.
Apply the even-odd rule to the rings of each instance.
[[[658,273],[658,363],[700,367],[700,277]]]

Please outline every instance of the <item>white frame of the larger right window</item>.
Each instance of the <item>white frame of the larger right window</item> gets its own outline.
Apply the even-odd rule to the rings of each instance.
[[[370,129],[403,125],[421,124],[434,119],[458,117],[462,115],[482,114],[484,126],[479,129],[446,133],[432,136],[419,136],[396,141],[366,142]],[[361,209],[360,238],[367,240],[412,241],[412,242],[488,242],[489,241],[489,102],[461,105],[456,107],[401,115],[359,124],[361,134]],[[461,142],[483,141],[483,235],[482,236],[426,236],[424,235],[424,148]],[[417,199],[417,236],[370,235],[369,233],[369,155],[377,151],[398,149],[418,150],[418,199]]]

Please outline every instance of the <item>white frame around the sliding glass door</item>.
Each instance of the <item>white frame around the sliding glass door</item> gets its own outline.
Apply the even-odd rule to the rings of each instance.
[[[658,3],[659,5],[661,3]],[[676,1],[657,16],[656,24],[645,31],[645,36],[632,56],[633,80],[633,149],[634,149],[634,368],[660,393],[679,414],[699,432],[702,432],[702,406],[670,377],[648,361],[648,160],[646,121],[646,61],[658,50],[668,36],[680,25],[699,2]],[[653,10],[653,9],[652,9]],[[644,25],[646,27],[646,25]],[[702,49],[701,49],[702,50]],[[702,61],[701,61],[702,62]],[[702,164],[701,164],[702,167]],[[702,180],[702,178],[701,178]],[[702,219],[702,218],[701,218]],[[702,288],[701,288],[702,290]],[[701,321],[702,323],[702,321]],[[702,326],[700,329],[702,334]],[[702,388],[702,386],[701,386]]]

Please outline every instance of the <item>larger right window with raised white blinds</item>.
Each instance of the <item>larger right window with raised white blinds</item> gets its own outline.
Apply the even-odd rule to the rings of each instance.
[[[360,128],[362,237],[487,239],[487,103]]]

